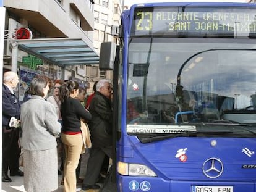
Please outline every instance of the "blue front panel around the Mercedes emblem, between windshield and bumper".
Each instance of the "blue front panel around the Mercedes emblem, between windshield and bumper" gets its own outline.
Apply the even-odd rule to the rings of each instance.
[[[216,146],[211,146],[213,140]],[[223,174],[215,180],[256,180],[256,168],[242,168],[244,165],[256,165],[255,138],[172,138],[142,144],[131,136],[130,141],[134,149],[132,162],[146,163],[157,175],[166,179],[212,181],[203,175],[202,165],[214,157],[220,159],[224,167]],[[243,150],[252,154],[246,154]],[[181,159],[178,151],[184,151],[186,159]]]

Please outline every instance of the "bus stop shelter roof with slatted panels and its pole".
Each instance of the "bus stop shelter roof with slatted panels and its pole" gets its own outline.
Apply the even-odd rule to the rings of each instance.
[[[30,40],[11,40],[12,71],[17,72],[18,50],[39,57],[64,69],[67,65],[98,64],[99,56],[86,41],[79,38],[38,38]]]

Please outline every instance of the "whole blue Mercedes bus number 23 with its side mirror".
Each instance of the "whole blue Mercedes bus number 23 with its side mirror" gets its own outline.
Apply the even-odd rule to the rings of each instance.
[[[117,190],[255,192],[256,4],[135,4],[119,29]]]

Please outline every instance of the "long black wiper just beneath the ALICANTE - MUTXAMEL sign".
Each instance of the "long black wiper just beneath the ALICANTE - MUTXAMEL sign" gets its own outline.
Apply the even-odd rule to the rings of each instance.
[[[190,135],[197,135],[200,133],[207,133],[207,134],[223,134],[223,133],[233,133],[231,130],[211,130],[211,131],[190,131],[186,133],[178,133],[178,134],[173,134],[173,135],[163,135],[163,136],[153,136],[153,137],[147,137],[147,138],[140,138],[141,143],[151,143],[154,141],[161,141],[165,139],[170,139],[170,138],[176,138],[179,136],[190,136]]]

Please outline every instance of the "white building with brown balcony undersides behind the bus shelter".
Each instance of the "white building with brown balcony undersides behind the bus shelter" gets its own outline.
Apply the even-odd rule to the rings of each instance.
[[[88,48],[93,49],[93,4],[93,0],[4,1],[4,7],[6,7],[4,70],[11,70],[13,67],[14,46],[15,43],[20,43],[20,40],[17,40],[16,32],[20,28],[30,30],[33,36],[32,40],[79,38],[85,42]],[[24,40],[24,43],[27,42],[30,40]],[[33,57],[33,59],[30,58],[30,62],[26,62],[28,57]],[[38,64],[31,60],[41,60],[41,62]],[[40,56],[32,56],[29,52],[18,50],[17,71],[20,67],[25,67],[48,75],[52,79],[77,78],[85,80],[85,65],[80,65],[78,62],[78,65],[63,66],[58,65],[58,62],[57,64],[51,62],[51,59],[46,60]]]

